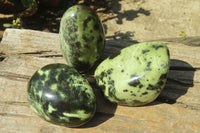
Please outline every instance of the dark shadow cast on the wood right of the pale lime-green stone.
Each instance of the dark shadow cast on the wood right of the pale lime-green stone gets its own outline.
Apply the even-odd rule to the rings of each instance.
[[[185,95],[189,87],[193,87],[195,68],[181,60],[171,60],[170,71],[165,88],[157,101],[174,104],[176,100]]]

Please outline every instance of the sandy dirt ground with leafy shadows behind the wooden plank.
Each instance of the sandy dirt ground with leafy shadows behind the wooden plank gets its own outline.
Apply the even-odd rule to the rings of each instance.
[[[21,28],[58,33],[63,13],[78,3],[97,10],[110,39],[141,42],[200,35],[199,0],[64,0],[58,7],[40,4],[35,15],[22,18]],[[0,39],[3,24],[23,10],[20,0],[0,1]]]

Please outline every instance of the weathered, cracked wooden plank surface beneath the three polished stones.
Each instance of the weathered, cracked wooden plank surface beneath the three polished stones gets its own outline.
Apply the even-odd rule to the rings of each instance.
[[[200,47],[190,46],[188,41],[185,41],[187,45],[173,40],[164,42],[170,50],[170,72],[167,85],[156,101],[142,107],[117,106],[105,100],[92,75],[86,75],[97,96],[97,113],[83,127],[66,128],[36,116],[29,107],[26,92],[27,82],[37,69],[49,63],[66,63],[60,52],[58,34],[7,29],[0,44],[0,132],[198,133]],[[134,43],[130,40],[106,40],[102,60]]]

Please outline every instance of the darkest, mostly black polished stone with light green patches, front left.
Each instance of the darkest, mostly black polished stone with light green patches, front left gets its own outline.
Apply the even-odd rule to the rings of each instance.
[[[88,81],[65,64],[49,64],[36,71],[28,83],[28,100],[41,118],[67,127],[85,124],[96,110]]]

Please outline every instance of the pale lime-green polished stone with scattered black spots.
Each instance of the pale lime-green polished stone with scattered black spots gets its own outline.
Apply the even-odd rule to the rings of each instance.
[[[111,102],[140,106],[159,96],[166,84],[169,65],[165,44],[139,43],[104,60],[95,70],[95,78]]]

